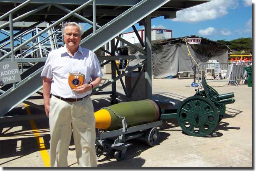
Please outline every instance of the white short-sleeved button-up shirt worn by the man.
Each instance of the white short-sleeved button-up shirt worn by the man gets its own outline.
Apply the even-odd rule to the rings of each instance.
[[[45,62],[41,77],[52,78],[51,93],[63,98],[82,98],[91,94],[74,92],[68,84],[68,74],[81,73],[85,75],[84,83],[91,82],[91,78],[102,77],[103,73],[99,60],[93,51],[78,47],[78,51],[71,56],[66,46],[51,51]]]

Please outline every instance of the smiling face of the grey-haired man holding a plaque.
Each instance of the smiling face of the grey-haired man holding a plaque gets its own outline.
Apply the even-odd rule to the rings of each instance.
[[[67,48],[76,49],[81,42],[79,28],[77,26],[67,26],[64,30],[64,42]]]

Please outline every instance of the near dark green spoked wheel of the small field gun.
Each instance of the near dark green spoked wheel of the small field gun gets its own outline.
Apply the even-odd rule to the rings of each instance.
[[[177,120],[188,135],[204,137],[215,130],[219,115],[211,100],[202,96],[192,96],[180,103]]]

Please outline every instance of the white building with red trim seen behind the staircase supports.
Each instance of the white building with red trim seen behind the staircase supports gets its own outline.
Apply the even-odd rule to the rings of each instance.
[[[138,30],[138,34],[141,37],[141,40],[143,42],[145,42],[145,30]],[[123,33],[121,34],[121,38],[125,39],[126,41],[134,44],[134,43],[139,43],[139,40],[135,34],[134,31],[128,32],[128,33]],[[172,38],[172,30],[167,30],[167,29],[162,29],[162,28],[152,28],[151,29],[151,39],[152,41],[154,40],[162,40],[162,39],[167,39],[167,38]],[[115,39],[115,43],[116,43],[116,39]],[[120,42],[118,43],[118,47],[120,46],[125,46],[127,44]],[[111,45],[110,42],[105,44],[105,49],[107,51],[110,51],[111,49]],[[108,54],[105,53],[105,55],[107,56]]]

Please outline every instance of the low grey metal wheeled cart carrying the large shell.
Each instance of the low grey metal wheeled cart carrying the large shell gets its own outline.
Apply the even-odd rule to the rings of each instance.
[[[122,161],[125,158],[127,148],[132,143],[127,142],[133,138],[145,140],[147,145],[157,145],[159,140],[159,131],[157,127],[162,125],[162,120],[154,123],[137,125],[130,128],[123,128],[100,133],[96,135],[96,154],[99,158],[102,154],[107,155],[114,152],[115,159]],[[126,129],[125,129],[126,128]]]

